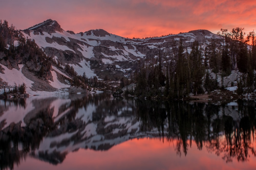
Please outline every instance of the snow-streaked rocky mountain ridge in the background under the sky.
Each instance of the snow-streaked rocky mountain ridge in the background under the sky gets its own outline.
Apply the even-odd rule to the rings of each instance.
[[[102,29],[80,33],[65,31],[57,21],[51,19],[24,30],[23,33],[25,37],[34,39],[49,57],[55,58],[61,65],[73,66],[79,75],[85,72],[88,77],[97,75],[100,78],[103,78],[104,72],[108,72],[111,66],[115,66],[116,72],[128,75],[133,69],[130,61],[154,57],[159,48],[168,51],[180,38],[184,39],[189,48],[195,40],[202,41],[217,36],[207,30],[196,30],[177,35],[130,39]]]

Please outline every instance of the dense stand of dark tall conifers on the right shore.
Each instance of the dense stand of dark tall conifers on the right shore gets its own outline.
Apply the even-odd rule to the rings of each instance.
[[[231,70],[243,73],[238,81],[240,93],[255,89],[256,44],[255,33],[245,38],[242,28],[221,29],[219,37],[191,44],[191,51],[180,39],[170,51],[160,50],[155,63],[138,63],[135,73],[137,86],[133,94],[148,97],[184,98],[189,93],[199,94],[224,88],[217,75],[228,76]],[[249,46],[249,41],[252,44]],[[215,73],[210,76],[209,71]]]

